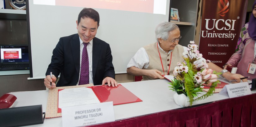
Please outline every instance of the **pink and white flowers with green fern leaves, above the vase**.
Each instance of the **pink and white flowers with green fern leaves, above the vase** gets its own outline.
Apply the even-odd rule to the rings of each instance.
[[[220,73],[208,69],[207,63],[210,61],[201,59],[203,55],[199,53],[194,41],[190,41],[187,51],[182,55],[185,62],[177,63],[173,71],[175,78],[169,83],[171,85],[169,87],[177,94],[185,94],[189,97],[190,105],[192,105],[194,101],[205,99],[213,94],[215,87],[220,83],[217,80],[217,75]],[[205,93],[201,86],[210,88]],[[199,95],[202,96],[199,97]]]

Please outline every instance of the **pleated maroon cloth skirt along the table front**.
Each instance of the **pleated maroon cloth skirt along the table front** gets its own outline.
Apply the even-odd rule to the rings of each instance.
[[[93,126],[256,127],[255,121],[256,94],[251,94],[215,101],[197,107],[168,110]]]

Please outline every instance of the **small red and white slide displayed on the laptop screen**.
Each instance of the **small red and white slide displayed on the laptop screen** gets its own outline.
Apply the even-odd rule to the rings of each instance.
[[[1,59],[21,59],[21,49],[1,49]]]

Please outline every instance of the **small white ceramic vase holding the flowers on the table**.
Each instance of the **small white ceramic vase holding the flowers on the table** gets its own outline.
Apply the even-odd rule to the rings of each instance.
[[[188,107],[190,105],[189,97],[187,97],[185,94],[177,94],[176,92],[173,95],[173,98],[175,103],[181,107]]]

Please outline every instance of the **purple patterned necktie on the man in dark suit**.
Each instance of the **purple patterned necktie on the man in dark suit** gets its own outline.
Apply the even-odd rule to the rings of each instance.
[[[89,43],[83,43],[83,53],[82,53],[82,62],[81,62],[81,74],[78,85],[89,84],[89,59],[87,53],[87,45]]]

